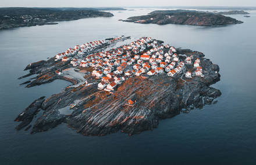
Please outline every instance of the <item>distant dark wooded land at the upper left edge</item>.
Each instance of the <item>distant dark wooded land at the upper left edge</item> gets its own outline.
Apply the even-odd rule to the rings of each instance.
[[[122,8],[0,8],[0,30],[35,25],[58,24],[56,21],[79,20],[91,17],[112,17],[100,10]],[[124,9],[125,10],[125,9]]]

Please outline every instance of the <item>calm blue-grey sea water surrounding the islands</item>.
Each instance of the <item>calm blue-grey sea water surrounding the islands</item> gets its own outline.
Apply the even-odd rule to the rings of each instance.
[[[256,152],[256,12],[232,16],[243,24],[225,27],[134,24],[118,21],[151,9],[112,12],[115,17],[0,31],[0,164],[254,164]],[[44,133],[16,131],[13,122],[32,101],[59,93],[56,80],[30,89],[19,86],[24,67],[70,46],[95,39],[151,36],[203,52],[221,68],[218,103],[162,120],[153,131],[84,137],[65,124]]]

